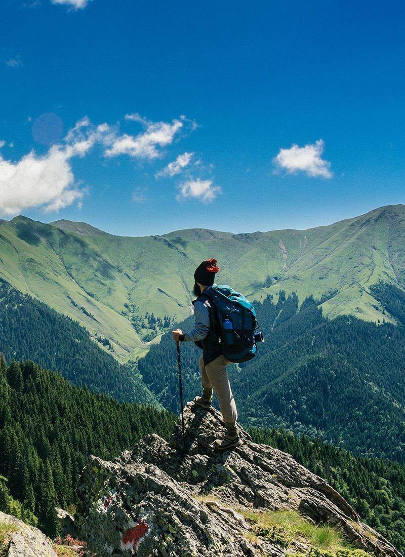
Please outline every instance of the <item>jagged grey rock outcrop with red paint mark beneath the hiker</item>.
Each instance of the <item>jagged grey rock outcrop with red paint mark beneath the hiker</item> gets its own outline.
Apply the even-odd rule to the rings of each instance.
[[[290,455],[253,443],[242,428],[243,446],[218,452],[212,443],[224,432],[221,414],[188,403],[184,418],[184,442],[178,421],[169,442],[152,434],[111,462],[91,457],[76,517],[91,551],[170,557],[302,552],[302,540],[283,549],[249,535],[251,525],[237,512],[286,509],[338,527],[369,554],[401,555]]]

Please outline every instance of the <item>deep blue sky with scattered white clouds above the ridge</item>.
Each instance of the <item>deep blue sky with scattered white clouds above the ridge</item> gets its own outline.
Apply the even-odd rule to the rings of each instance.
[[[3,0],[0,216],[243,232],[405,203],[404,11]]]

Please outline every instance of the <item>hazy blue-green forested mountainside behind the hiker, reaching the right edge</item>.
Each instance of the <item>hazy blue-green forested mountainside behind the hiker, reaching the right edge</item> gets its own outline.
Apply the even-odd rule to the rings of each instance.
[[[405,462],[405,293],[377,285],[398,325],[353,316],[323,317],[313,297],[299,306],[281,292],[257,304],[265,343],[256,358],[230,367],[240,422],[319,436],[357,455]],[[384,311],[384,310],[383,310]],[[189,317],[180,327],[188,330]],[[181,345],[184,399],[201,390],[199,349]],[[177,353],[171,335],[138,360],[145,384],[178,412]]]

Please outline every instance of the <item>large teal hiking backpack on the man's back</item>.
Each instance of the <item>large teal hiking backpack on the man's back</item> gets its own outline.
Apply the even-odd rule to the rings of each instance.
[[[256,343],[263,340],[253,304],[227,285],[209,286],[204,290],[213,304],[219,324],[218,340],[222,354],[230,361],[242,363],[256,355]]]

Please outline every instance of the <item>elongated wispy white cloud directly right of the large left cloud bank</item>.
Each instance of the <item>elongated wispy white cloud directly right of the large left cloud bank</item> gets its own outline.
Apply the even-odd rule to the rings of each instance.
[[[173,142],[175,134],[183,127],[180,120],[166,122],[149,122],[141,119],[138,114],[126,115],[127,120],[141,121],[145,131],[134,136],[123,134],[117,136],[111,146],[105,150],[106,157],[129,155],[130,157],[153,160],[160,155],[159,147],[165,147]]]

